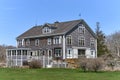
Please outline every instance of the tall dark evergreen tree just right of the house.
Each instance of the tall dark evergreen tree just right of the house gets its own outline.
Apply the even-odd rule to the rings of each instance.
[[[107,46],[105,45],[105,35],[100,30],[99,22],[96,23],[96,36],[97,36],[97,54],[98,57],[108,53]]]

